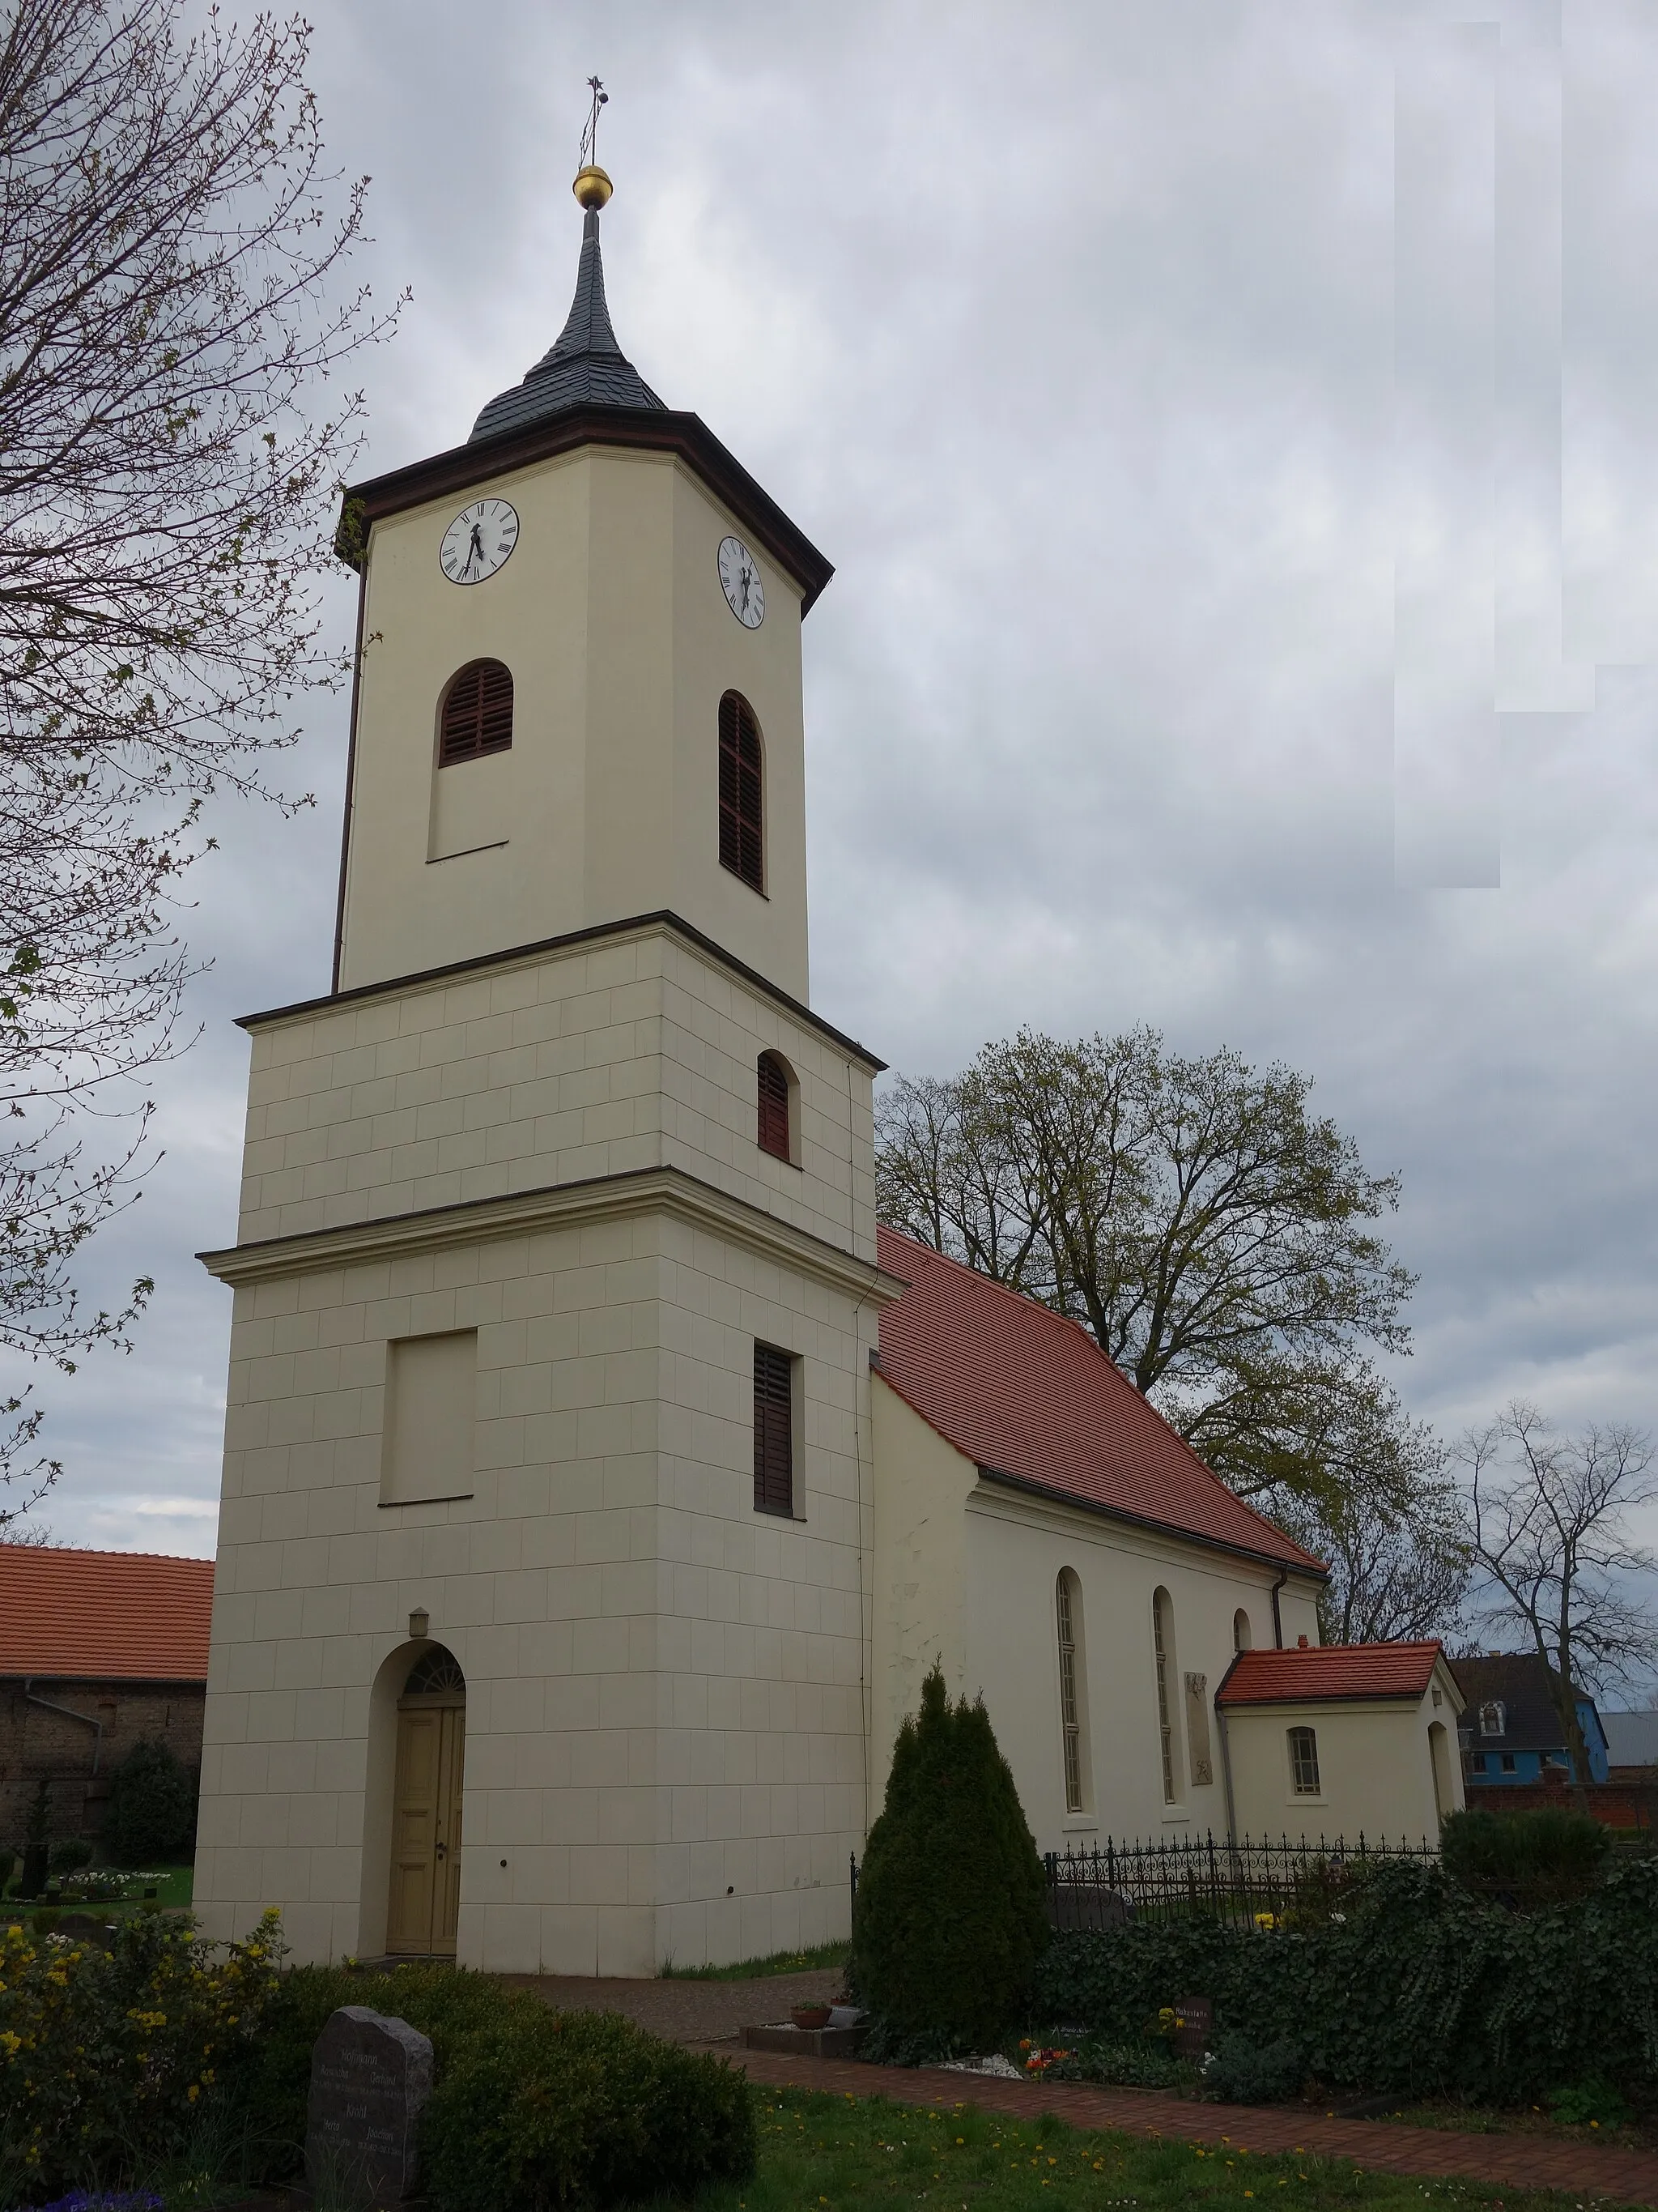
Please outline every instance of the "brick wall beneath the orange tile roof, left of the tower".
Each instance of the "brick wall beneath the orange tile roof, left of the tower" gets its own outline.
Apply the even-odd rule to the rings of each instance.
[[[206,1683],[183,1681],[44,1681],[38,1697],[71,1705],[104,1723],[97,1736],[66,1714],[31,1705],[22,1683],[0,1681],[0,1847],[18,1849],[40,1776],[51,1778],[53,1836],[95,1836],[104,1820],[108,1776],[135,1743],[166,1743],[186,1767],[201,1767],[201,1708]]]

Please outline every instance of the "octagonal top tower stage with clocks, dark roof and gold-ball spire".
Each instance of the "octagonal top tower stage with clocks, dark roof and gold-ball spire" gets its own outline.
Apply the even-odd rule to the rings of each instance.
[[[345,500],[363,644],[334,980],[679,914],[805,998],[800,622],[831,568],[623,356],[599,257],[610,179],[584,168],[577,197],[557,343],[466,445]],[[736,869],[727,697],[756,816]]]

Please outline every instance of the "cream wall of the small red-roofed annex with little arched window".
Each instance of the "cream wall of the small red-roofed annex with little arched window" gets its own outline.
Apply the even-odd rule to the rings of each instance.
[[[1435,1703],[1435,1692],[1439,1703]],[[1461,1759],[1457,1756],[1457,1712],[1461,1701],[1444,1661],[1419,1699],[1366,1699],[1304,1705],[1247,1705],[1227,1717],[1231,1743],[1231,1790],[1240,1836],[1291,1843],[1307,1836],[1355,1845],[1437,1843],[1439,1803],[1430,1730],[1446,1730],[1448,1756],[1441,1765],[1446,1812],[1463,1805]],[[1318,1741],[1318,1796],[1293,1790],[1289,1730],[1311,1728]]]

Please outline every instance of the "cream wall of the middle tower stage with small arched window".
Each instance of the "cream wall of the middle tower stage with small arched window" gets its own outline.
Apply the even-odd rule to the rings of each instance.
[[[756,1062],[800,1166],[756,1146]],[[256,1024],[239,1241],[679,1166],[873,1263],[871,1071],[672,929]]]

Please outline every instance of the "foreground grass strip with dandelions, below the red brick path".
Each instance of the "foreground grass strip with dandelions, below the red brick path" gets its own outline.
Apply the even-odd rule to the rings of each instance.
[[[1085,2135],[1054,2119],[769,2090],[756,2095],[760,2168],[743,2188],[705,2190],[696,2212],[842,2212],[928,2203],[953,2212],[1421,2212],[1421,2205],[1563,2212],[1576,2197],[1512,2183],[1413,2181],[1346,2161],[1229,2154],[1194,2143]]]

